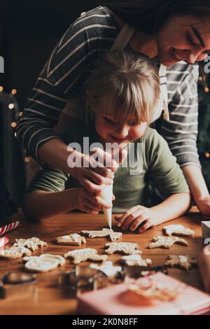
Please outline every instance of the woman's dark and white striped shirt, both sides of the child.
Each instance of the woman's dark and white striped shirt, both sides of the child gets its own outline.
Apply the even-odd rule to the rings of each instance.
[[[110,10],[99,6],[73,22],[57,43],[29,95],[17,128],[20,143],[34,158],[38,159],[42,144],[53,138],[62,139],[66,122],[76,124],[85,119],[83,82],[87,69],[101,52],[111,48],[119,33]],[[197,65],[179,62],[167,68],[170,120],[162,119],[161,134],[181,167],[200,167],[197,79]],[[66,106],[67,101],[71,106]]]

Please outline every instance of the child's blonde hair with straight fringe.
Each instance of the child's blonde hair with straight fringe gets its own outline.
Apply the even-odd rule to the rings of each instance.
[[[103,103],[116,122],[149,123],[160,97],[158,69],[137,52],[109,50],[94,64],[86,90],[91,110]]]

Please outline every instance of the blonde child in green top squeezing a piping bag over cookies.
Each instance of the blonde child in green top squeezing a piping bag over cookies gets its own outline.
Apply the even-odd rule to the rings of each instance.
[[[79,90],[78,99],[76,96],[68,104],[69,111],[71,106],[83,106],[83,117],[75,118],[77,125],[62,118],[57,131],[66,144],[80,145],[83,153],[83,137],[89,137],[90,144],[99,142],[105,147],[107,143],[116,143],[127,149],[128,157],[120,164],[113,180],[113,213],[121,214],[115,217],[118,226],[144,232],[182,216],[190,207],[188,185],[167,142],[148,127],[160,100],[160,80],[155,65],[133,51],[104,52],[86,80],[85,92],[87,106],[85,103],[83,106]],[[135,172],[130,165],[132,147],[137,162]],[[97,152],[105,154],[99,148]],[[67,181],[70,185],[65,190]],[[148,204],[151,181],[164,198],[153,207]],[[25,214],[36,219],[75,209],[98,214],[102,207],[109,208],[112,204],[49,165],[44,165],[31,181],[23,203]]]

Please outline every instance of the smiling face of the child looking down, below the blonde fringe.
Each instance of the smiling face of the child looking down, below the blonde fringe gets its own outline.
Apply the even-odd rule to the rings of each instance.
[[[107,112],[107,113],[106,113]],[[147,123],[117,123],[109,111],[95,111],[95,129],[102,143],[129,144],[144,135]]]

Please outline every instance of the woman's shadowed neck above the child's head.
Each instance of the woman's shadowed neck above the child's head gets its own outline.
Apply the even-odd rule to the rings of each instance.
[[[125,25],[125,21],[113,13],[113,18],[120,29]],[[154,36],[136,30],[129,42],[131,48],[135,51],[141,52],[150,58],[158,56],[157,43]]]

